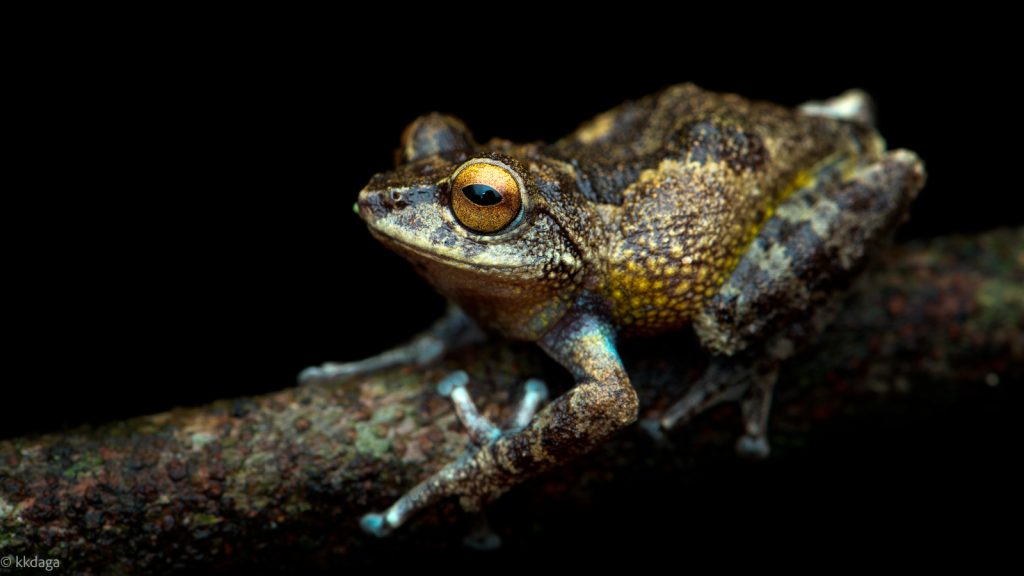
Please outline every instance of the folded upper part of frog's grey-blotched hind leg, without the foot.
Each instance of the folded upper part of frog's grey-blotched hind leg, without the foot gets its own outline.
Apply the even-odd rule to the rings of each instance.
[[[822,176],[779,205],[695,318],[705,345],[732,356],[772,337],[799,345],[819,332],[829,300],[905,219],[925,176],[913,153],[897,150],[839,177]],[[784,358],[795,346],[773,347]]]

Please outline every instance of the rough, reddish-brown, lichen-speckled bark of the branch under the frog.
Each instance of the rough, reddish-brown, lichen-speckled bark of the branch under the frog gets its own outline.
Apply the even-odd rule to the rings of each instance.
[[[678,399],[701,368],[697,352],[672,352],[692,346],[691,338],[666,341],[624,351],[642,416]],[[467,369],[478,402],[499,420],[526,377],[547,377],[554,394],[571,383],[531,346],[486,346],[426,370],[0,442],[0,557],[55,558],[81,573],[159,573],[372,550],[359,516],[466,445],[433,387],[456,367]],[[984,382],[1019,382],[1022,373],[1024,229],[898,247],[815,349],[787,368],[770,438],[799,443],[837,411],[869,413],[895,396],[955,399]],[[729,445],[739,429],[722,418],[694,426],[681,449],[696,454],[695,465],[701,444]],[[631,430],[600,457],[524,489],[554,497],[635,465],[641,436]],[[458,545],[462,527],[451,521],[459,516],[440,506],[397,537],[411,546]]]

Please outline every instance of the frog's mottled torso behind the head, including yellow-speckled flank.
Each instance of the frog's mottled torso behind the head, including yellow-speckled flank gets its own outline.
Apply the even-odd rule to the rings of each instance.
[[[614,320],[685,323],[735,268],[775,206],[823,173],[881,154],[874,130],[673,86],[596,117],[551,147],[608,219],[599,291]]]

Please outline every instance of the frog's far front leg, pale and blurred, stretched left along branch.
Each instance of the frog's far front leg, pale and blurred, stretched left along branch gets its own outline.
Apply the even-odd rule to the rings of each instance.
[[[458,306],[450,304],[440,320],[404,344],[354,362],[310,366],[299,373],[298,379],[300,384],[309,384],[340,380],[401,364],[425,366],[447,351],[479,341],[482,337],[479,328]]]

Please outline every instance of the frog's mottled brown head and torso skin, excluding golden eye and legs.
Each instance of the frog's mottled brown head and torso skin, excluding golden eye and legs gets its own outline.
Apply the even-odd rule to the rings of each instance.
[[[398,251],[418,244],[411,259],[482,326],[529,340],[585,291],[600,294],[616,327],[628,332],[682,326],[729,277],[779,202],[813,186],[822,171],[849,173],[878,161],[883,150],[868,126],[689,84],[625,104],[547,147],[468,146],[465,126],[437,115],[409,130],[420,133],[423,126],[435,126],[433,137],[423,154],[406,157],[427,163],[429,178],[419,163],[375,176],[362,196],[371,229]],[[516,230],[489,238],[474,233],[501,230],[499,219],[466,231],[458,218],[465,202],[446,178],[462,162],[495,154],[512,159],[527,188],[523,197],[536,206]],[[416,210],[415,222],[380,217],[387,211],[375,199],[410,186],[436,213]],[[434,263],[442,258],[466,262],[476,274],[443,278]],[[521,280],[513,294],[492,296],[475,286],[509,276],[511,268]],[[545,301],[521,297],[524,290],[543,293]]]

